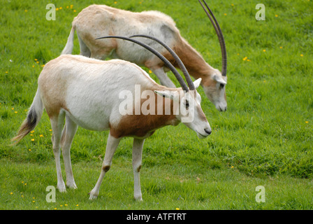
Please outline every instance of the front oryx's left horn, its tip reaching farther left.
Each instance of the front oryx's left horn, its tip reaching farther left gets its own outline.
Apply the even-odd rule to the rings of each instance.
[[[119,39],[123,39],[123,40],[126,40],[126,41],[131,41],[133,43],[137,43],[138,45],[142,46],[143,48],[146,48],[147,50],[152,52],[154,55],[157,55],[157,57],[159,57],[159,59],[161,59],[164,62],[164,64],[166,64],[166,66],[168,66],[170,71],[172,71],[174,73],[175,77],[177,78],[178,82],[180,83],[180,86],[182,87],[182,90],[185,90],[186,92],[189,91],[186,83],[184,83],[184,79],[182,78],[182,76],[180,76],[180,73],[175,69],[173,64],[171,64],[168,61],[168,59],[166,59],[166,57],[164,57],[159,52],[157,52],[157,50],[155,50],[154,48],[150,47],[150,45],[147,45],[147,44],[145,44],[143,42],[136,41],[133,38],[128,38],[128,37],[125,37],[125,36],[102,36],[102,37],[96,38],[96,40],[103,39],[103,38],[119,38]]]

